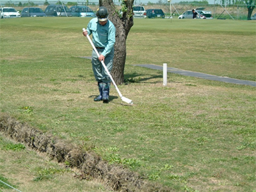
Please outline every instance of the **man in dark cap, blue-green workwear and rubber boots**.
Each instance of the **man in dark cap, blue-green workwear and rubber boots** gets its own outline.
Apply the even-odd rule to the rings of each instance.
[[[100,55],[98,58],[96,52],[92,51],[92,69],[100,92],[99,96],[94,100],[103,100],[104,103],[108,103],[111,79],[102,66],[101,61],[104,61],[109,72],[111,72],[113,68],[116,29],[114,24],[108,20],[108,10],[106,7],[100,6],[96,15],[97,18],[90,20],[86,31],[83,31],[83,35],[92,34],[92,42]]]

